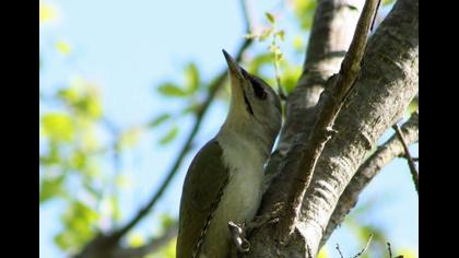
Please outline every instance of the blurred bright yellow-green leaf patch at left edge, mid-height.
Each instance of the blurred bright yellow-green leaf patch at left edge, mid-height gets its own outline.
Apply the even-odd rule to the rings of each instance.
[[[75,130],[72,118],[63,113],[48,113],[42,117],[43,133],[55,141],[71,141]]]

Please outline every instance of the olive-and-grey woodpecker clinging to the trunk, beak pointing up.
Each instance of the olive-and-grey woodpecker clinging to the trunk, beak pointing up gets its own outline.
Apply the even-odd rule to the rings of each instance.
[[[226,258],[228,222],[249,223],[261,202],[263,166],[282,125],[279,95],[224,49],[231,82],[226,119],[192,160],[180,198],[177,258]],[[234,253],[233,253],[234,254]]]

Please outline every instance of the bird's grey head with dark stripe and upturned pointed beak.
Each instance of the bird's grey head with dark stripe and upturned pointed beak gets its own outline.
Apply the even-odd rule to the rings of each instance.
[[[225,50],[232,98],[224,127],[261,141],[271,150],[281,129],[282,108],[275,91],[239,67]]]

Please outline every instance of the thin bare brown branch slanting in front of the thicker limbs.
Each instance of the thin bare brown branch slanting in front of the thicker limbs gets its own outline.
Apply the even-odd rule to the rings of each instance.
[[[295,222],[298,218],[303,198],[306,192],[313,173],[315,171],[317,161],[323,150],[326,142],[333,133],[332,125],[334,118],[348,96],[350,90],[354,85],[355,80],[361,68],[362,57],[366,47],[367,35],[373,22],[373,17],[378,4],[378,0],[367,0],[358,19],[354,37],[343,62],[341,70],[332,85],[329,96],[325,99],[323,108],[320,116],[314,126],[313,132],[309,134],[307,145],[304,149],[303,156],[299,161],[299,166],[296,179],[292,180],[290,187],[286,210],[284,220],[278,227],[279,238],[281,243],[286,243],[289,236],[294,230]]]

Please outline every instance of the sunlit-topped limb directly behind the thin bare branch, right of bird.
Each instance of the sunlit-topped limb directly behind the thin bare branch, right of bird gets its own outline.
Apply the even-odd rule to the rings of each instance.
[[[266,168],[264,189],[269,188],[263,195],[259,213],[270,212],[276,203],[285,200],[284,181],[289,180],[289,172],[293,171],[290,167],[297,167],[299,159],[284,162],[284,157],[287,152],[289,155],[299,156],[318,118],[316,104],[326,81],[340,69],[364,1],[352,3],[352,7],[342,0],[321,0],[317,3],[303,73],[293,93],[289,95],[286,120],[276,150]]]

